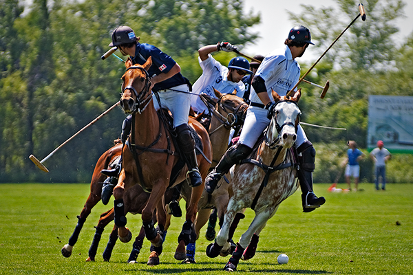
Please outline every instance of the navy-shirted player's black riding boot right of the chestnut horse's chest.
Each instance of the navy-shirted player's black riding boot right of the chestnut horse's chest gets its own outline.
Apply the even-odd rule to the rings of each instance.
[[[191,187],[200,186],[202,184],[202,177],[196,161],[195,142],[188,124],[178,125],[176,127],[176,134],[178,135],[178,145],[188,166],[187,176],[190,179],[188,184]]]

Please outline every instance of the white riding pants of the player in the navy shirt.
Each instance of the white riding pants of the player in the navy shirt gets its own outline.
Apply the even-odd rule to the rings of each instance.
[[[189,87],[184,84],[172,87],[171,89],[178,91],[171,91],[167,89],[158,92],[160,104],[162,107],[167,107],[169,111],[171,111],[173,115],[173,126],[187,124],[189,109],[191,108],[191,95],[188,94]],[[181,93],[180,91],[184,91],[185,93]],[[156,100],[156,96],[153,96],[153,104],[155,105],[155,109],[158,110],[159,104],[158,100]]]

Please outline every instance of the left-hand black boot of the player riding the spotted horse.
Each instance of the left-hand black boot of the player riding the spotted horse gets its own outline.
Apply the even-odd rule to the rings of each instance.
[[[207,193],[212,194],[218,185],[218,181],[229,172],[229,169],[242,159],[245,159],[252,151],[252,148],[244,144],[237,143],[231,146],[224,153],[218,165],[209,173],[207,179],[205,179],[205,190],[207,190]]]

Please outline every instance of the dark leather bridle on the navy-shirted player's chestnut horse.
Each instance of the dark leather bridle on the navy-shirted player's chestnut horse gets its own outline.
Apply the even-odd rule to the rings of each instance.
[[[150,87],[150,84],[151,84],[149,74],[148,74],[146,69],[144,69],[143,67],[140,67],[140,66],[131,66],[131,67],[126,69],[126,72],[129,71],[129,69],[140,69],[142,72],[145,73],[145,86],[143,87],[142,91],[140,91],[140,94],[138,94],[138,91],[136,91],[136,89],[132,85],[124,87],[125,86],[125,82],[124,82],[124,83],[122,83],[122,88],[121,88],[122,94],[121,94],[121,96],[123,96],[123,94],[125,93],[126,90],[133,91],[134,95],[136,96],[136,100],[134,100],[132,98],[132,100],[134,100],[135,104],[134,104],[134,108],[131,110],[131,112],[135,113],[136,111],[138,111],[138,113],[142,113],[142,111],[145,111],[146,107],[149,105],[149,103],[151,102],[151,100],[153,98],[152,93],[149,93],[149,87]],[[148,93],[149,93],[149,96],[147,96]],[[122,105],[122,102],[120,104]]]

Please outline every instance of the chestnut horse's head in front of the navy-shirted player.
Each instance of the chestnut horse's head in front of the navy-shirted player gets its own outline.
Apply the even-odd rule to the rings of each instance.
[[[152,58],[149,56],[144,65],[134,65],[131,58],[125,62],[126,72],[122,76],[122,97],[120,106],[125,113],[134,113],[142,111],[152,100],[152,94],[149,90],[151,82],[147,70],[152,65]]]

